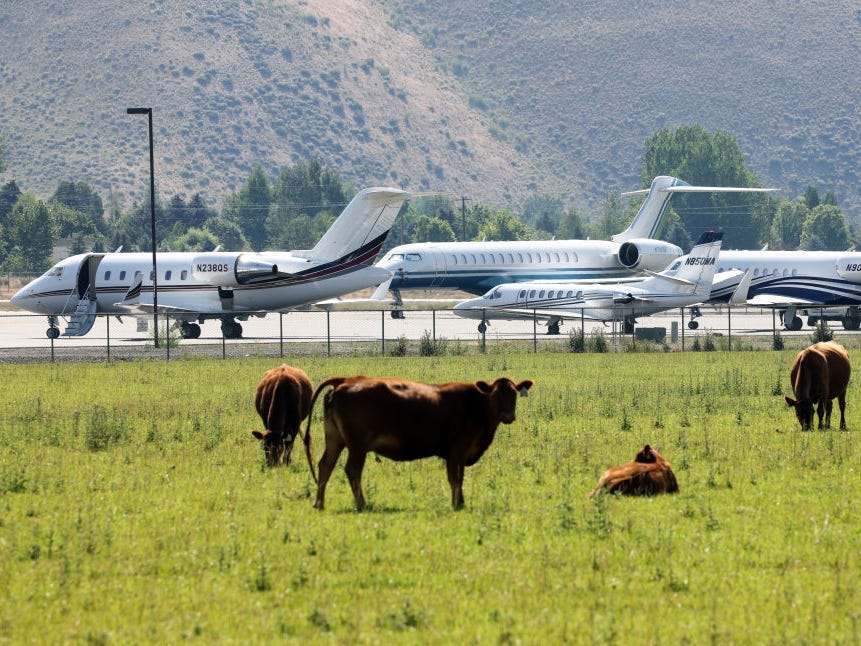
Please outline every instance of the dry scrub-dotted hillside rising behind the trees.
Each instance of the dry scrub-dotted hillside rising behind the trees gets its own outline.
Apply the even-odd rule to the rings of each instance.
[[[861,215],[861,10],[726,4],[407,0],[0,5],[8,168],[49,195],[146,189],[213,202],[254,163],[317,157],[357,187],[595,209],[640,184],[645,138],[732,133],[763,183],[833,189]],[[591,212],[591,211],[590,211]]]

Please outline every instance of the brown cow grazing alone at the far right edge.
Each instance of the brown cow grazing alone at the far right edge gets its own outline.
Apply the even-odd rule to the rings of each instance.
[[[789,372],[795,399],[783,399],[795,409],[802,431],[813,427],[813,407],[817,404],[819,428],[831,427],[831,400],[835,397],[840,405],[840,428],[846,428],[846,387],[851,372],[846,348],[834,341],[815,343],[798,353]]]

